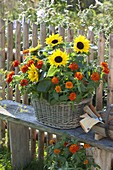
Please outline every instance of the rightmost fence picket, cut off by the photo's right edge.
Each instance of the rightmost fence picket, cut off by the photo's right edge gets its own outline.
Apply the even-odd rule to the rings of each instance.
[[[109,37],[109,68],[110,73],[108,75],[108,101],[107,104],[110,105],[113,103],[113,34],[110,34]]]

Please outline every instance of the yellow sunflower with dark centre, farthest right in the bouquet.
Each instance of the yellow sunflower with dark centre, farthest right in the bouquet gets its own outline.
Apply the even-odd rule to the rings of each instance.
[[[74,51],[77,53],[88,53],[90,48],[90,41],[83,35],[79,35],[74,40]]]

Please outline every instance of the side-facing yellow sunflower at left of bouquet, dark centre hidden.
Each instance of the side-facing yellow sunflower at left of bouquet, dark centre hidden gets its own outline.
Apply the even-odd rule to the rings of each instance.
[[[31,82],[38,82],[38,72],[34,64],[29,67],[28,78]]]

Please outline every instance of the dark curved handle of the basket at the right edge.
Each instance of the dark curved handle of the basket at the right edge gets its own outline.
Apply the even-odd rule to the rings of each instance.
[[[105,133],[106,133],[106,136],[110,139],[113,140],[113,138],[111,138],[110,134],[109,134],[109,116],[110,116],[110,113],[111,113],[111,110],[113,109],[113,104],[109,105],[107,107],[107,110],[106,110],[106,117],[105,117]]]

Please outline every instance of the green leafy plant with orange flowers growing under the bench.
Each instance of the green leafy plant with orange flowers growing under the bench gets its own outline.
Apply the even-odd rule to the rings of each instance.
[[[90,170],[94,166],[99,169],[92,156],[86,154],[85,146],[90,147],[89,145],[81,145],[77,140],[64,135],[59,142],[52,143],[51,141],[51,145],[46,148],[45,168],[49,170]]]

